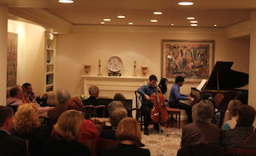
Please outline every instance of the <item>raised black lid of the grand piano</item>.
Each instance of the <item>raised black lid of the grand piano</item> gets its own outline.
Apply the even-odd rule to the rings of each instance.
[[[208,83],[205,85],[205,90],[217,90],[217,72],[219,90],[234,90],[248,84],[249,75],[244,72],[236,72],[231,70],[234,62],[217,61]]]

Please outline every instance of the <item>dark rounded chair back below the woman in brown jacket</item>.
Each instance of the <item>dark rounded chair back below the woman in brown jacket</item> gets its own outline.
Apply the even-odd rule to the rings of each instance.
[[[224,156],[222,146],[213,144],[186,145],[178,150],[177,156]]]

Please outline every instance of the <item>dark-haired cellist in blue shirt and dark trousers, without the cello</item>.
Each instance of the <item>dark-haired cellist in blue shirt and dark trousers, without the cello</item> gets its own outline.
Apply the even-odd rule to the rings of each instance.
[[[155,75],[151,75],[148,80],[148,84],[143,85],[138,89],[138,93],[142,96],[142,106],[140,107],[140,111],[144,115],[144,134],[149,135],[148,133],[148,124],[151,119],[150,113],[151,109],[153,107],[152,101],[150,99],[150,96],[152,93],[155,93],[156,90],[161,92],[159,88],[156,87],[156,83],[158,81],[158,78]],[[157,131],[159,131],[158,124],[154,124],[153,128]],[[163,130],[161,130],[163,131]]]

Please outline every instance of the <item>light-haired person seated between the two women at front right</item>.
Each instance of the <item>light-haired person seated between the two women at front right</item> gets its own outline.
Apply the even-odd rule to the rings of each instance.
[[[242,105],[241,101],[238,101],[238,100],[229,101],[228,110],[229,110],[229,118],[231,119],[229,121],[226,121],[223,124],[222,130],[230,130],[235,128],[237,109],[241,105]]]

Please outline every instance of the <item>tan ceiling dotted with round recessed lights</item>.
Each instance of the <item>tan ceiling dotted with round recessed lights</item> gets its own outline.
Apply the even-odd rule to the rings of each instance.
[[[189,26],[188,16],[199,21],[199,27],[226,27],[250,19],[256,0],[193,0],[193,6],[178,6],[179,0],[74,0],[63,4],[57,0],[0,0],[9,8],[46,9],[74,25],[100,25],[104,18],[111,21],[105,25],[134,26]],[[162,15],[152,14],[162,11]],[[117,19],[125,15],[125,19]],[[158,20],[151,23],[150,20]],[[27,19],[29,20],[29,19]]]

